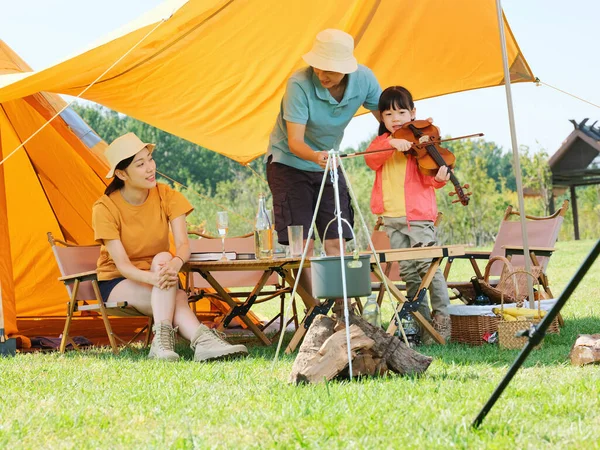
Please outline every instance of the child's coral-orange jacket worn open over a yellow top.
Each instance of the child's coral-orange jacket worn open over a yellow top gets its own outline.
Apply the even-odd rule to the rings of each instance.
[[[377,136],[369,148],[368,152],[390,148],[388,138],[390,133],[384,133]],[[373,214],[383,213],[383,187],[382,187],[382,168],[385,162],[393,156],[393,151],[374,153],[365,155],[367,166],[375,170],[375,183],[371,191],[371,211]],[[406,206],[406,220],[435,221],[437,216],[437,202],[435,200],[435,189],[446,185],[445,181],[439,182],[435,177],[423,175],[419,172],[416,159],[407,155],[406,175],[404,178],[404,203]]]

